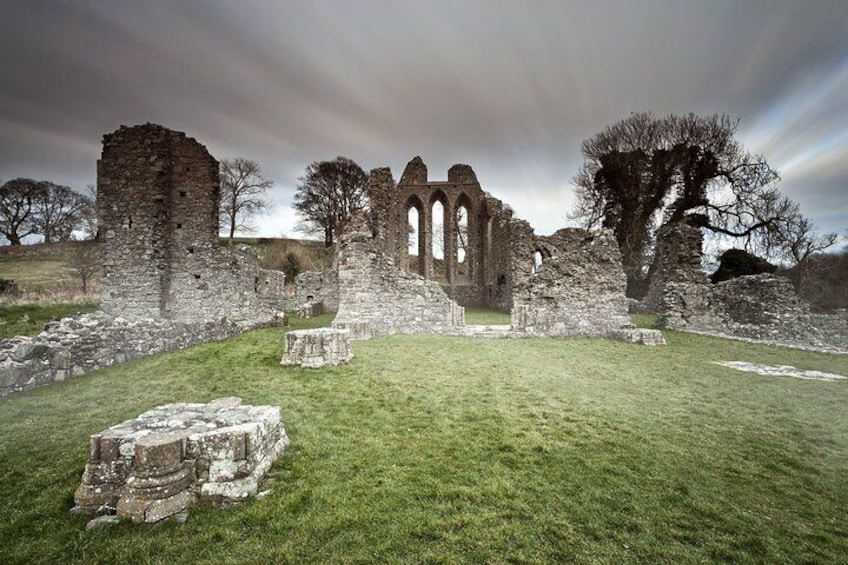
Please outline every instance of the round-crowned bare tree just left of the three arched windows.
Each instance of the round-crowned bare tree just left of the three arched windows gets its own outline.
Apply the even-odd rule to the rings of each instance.
[[[328,247],[353,213],[368,206],[368,175],[347,157],[310,163],[298,181],[294,208],[302,218],[299,228],[322,234]]]

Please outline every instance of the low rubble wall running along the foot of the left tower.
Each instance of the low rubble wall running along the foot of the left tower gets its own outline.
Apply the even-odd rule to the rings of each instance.
[[[64,318],[37,336],[0,341],[0,398],[131,359],[284,324],[285,318],[274,316],[249,324],[225,319],[129,321],[103,313]]]

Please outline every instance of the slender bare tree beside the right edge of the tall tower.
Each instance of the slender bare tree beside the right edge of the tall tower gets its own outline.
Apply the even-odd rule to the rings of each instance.
[[[259,163],[236,157],[221,161],[220,225],[230,244],[236,231],[252,232],[252,218],[270,206],[268,190],[274,182],[262,176]]]

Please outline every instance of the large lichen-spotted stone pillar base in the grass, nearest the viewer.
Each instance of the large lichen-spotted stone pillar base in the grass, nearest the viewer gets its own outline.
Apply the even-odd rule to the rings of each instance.
[[[91,436],[74,513],[158,522],[255,495],[288,447],[278,406],[167,404]]]

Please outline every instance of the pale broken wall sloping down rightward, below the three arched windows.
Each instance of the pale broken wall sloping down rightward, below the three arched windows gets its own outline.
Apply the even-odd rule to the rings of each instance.
[[[391,173],[388,173],[389,178]],[[372,180],[385,171],[372,172]],[[367,323],[373,335],[443,333],[464,325],[464,309],[435,281],[398,267],[364,216],[339,245],[339,310],[334,327]]]

